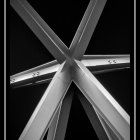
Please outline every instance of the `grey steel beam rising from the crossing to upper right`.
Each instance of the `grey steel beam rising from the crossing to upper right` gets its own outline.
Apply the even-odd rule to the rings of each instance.
[[[84,55],[106,1],[107,0],[90,0],[70,46],[71,55],[75,59],[80,60]]]

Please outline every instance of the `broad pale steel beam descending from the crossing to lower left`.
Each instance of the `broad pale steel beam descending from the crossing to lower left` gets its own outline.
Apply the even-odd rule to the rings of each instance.
[[[57,111],[71,83],[71,76],[65,64],[65,62],[61,64],[19,140],[39,140],[49,127],[52,116]]]

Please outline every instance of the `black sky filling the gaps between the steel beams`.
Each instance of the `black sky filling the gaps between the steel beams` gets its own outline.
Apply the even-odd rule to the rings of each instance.
[[[89,0],[28,0],[40,16],[69,46]],[[54,60],[38,38],[10,7],[10,75]],[[86,54],[130,54],[130,0],[108,0],[91,38]],[[133,50],[133,46],[131,46]],[[130,114],[130,69],[95,75],[111,95]],[[10,88],[9,135],[16,140],[42,97],[48,84]],[[97,139],[77,98],[75,89],[66,140]],[[69,89],[69,90],[70,90]],[[133,92],[131,92],[133,97]]]

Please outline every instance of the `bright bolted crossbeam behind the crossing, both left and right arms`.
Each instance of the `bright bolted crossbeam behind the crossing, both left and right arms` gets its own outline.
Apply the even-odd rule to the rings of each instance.
[[[130,55],[84,55],[82,61],[93,74],[130,67]],[[49,82],[60,64],[56,60],[10,76],[11,87]]]

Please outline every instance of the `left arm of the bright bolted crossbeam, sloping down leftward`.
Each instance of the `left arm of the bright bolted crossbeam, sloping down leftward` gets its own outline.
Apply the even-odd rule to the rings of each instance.
[[[47,79],[52,79],[60,64],[57,61],[52,61],[44,65],[23,71],[21,73],[10,76],[11,87],[21,87],[29,84],[35,84]]]

